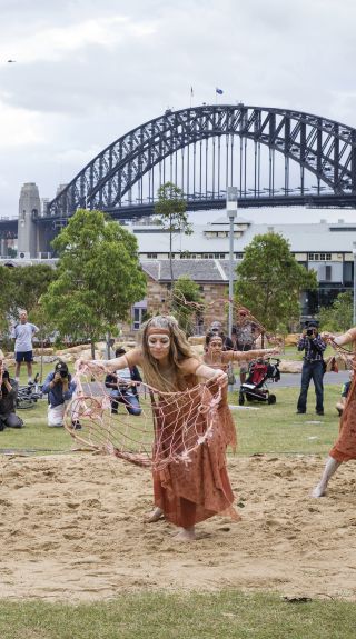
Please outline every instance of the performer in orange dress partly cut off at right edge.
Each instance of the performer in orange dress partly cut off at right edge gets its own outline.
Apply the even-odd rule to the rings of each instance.
[[[323,332],[322,338],[335,343],[336,346],[344,346],[347,343],[356,342],[356,327],[350,328],[345,333],[335,337],[330,332]],[[312,497],[323,497],[326,492],[329,479],[338,469],[340,463],[356,459],[356,438],[355,438],[355,418],[356,418],[356,376],[353,376],[352,386],[346,399],[346,405],[340,417],[340,428],[338,438],[327,457],[325,469],[319,483],[314,488]]]

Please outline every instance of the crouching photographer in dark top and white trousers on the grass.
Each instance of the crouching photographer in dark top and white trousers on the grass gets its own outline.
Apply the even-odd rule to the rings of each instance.
[[[42,387],[42,392],[48,395],[48,426],[63,426],[65,411],[75,390],[67,363],[57,362],[55,372],[47,376]],[[73,428],[79,429],[79,423],[73,423]]]

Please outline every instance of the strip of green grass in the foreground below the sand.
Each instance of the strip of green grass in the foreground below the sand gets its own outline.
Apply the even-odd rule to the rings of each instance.
[[[354,639],[356,607],[274,595],[126,593],[106,603],[1,602],[1,639]]]

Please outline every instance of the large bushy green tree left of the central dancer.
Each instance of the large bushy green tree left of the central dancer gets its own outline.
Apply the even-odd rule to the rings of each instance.
[[[137,239],[101,211],[79,209],[53,240],[58,279],[42,297],[61,335],[95,341],[128,318],[146,293]]]

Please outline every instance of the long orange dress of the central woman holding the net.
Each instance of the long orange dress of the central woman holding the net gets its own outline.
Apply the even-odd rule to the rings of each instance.
[[[200,363],[197,360],[197,365]],[[165,455],[169,456],[172,447],[182,446],[184,449],[180,423],[187,427],[188,422],[188,431],[194,429],[195,437],[196,433],[204,436],[211,428],[204,443],[189,453],[189,460],[172,461],[162,469],[154,469],[155,506],[161,508],[168,521],[182,528],[191,528],[217,513],[226,513],[238,520],[240,518],[233,508],[235,498],[226,468],[226,433],[220,421],[221,413],[209,410],[212,395],[205,385],[198,385],[195,375],[180,375],[178,389],[184,392],[177,398],[177,405],[164,397],[159,397],[154,405],[154,457],[162,459]],[[209,421],[211,419],[212,423]]]

